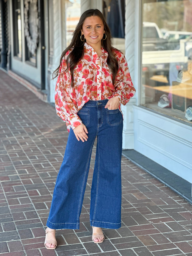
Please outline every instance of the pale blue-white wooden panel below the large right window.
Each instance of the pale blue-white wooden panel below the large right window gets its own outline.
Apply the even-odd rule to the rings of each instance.
[[[192,126],[134,106],[134,149],[192,183]]]

